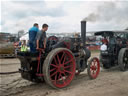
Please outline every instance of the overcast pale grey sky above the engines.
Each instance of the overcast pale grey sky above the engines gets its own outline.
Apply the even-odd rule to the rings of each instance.
[[[49,25],[48,32],[80,32],[80,21],[86,19],[87,31],[123,30],[128,27],[128,1],[77,0],[2,0],[2,32],[27,32],[38,23]]]

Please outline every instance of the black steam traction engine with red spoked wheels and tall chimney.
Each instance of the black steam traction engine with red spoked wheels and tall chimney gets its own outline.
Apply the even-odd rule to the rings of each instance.
[[[81,22],[81,37],[50,36],[45,53],[20,52],[21,76],[29,81],[45,81],[53,88],[63,88],[71,83],[75,75],[86,68],[91,79],[100,71],[99,60],[94,57],[87,64],[91,53],[86,49],[86,21]]]

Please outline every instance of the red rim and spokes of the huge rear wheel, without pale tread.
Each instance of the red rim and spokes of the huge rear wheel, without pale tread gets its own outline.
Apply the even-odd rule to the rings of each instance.
[[[62,50],[56,53],[49,68],[52,84],[59,88],[69,85],[75,75],[75,68],[75,59],[69,51]]]

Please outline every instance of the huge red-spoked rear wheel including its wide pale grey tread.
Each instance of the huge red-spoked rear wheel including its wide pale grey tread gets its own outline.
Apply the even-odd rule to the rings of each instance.
[[[54,88],[68,86],[76,72],[76,62],[72,52],[66,48],[56,48],[46,57],[43,65],[44,79]]]

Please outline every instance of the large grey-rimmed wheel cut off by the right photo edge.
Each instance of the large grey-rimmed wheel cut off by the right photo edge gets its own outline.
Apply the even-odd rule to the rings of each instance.
[[[122,48],[118,55],[118,64],[121,71],[128,69],[128,48]]]

